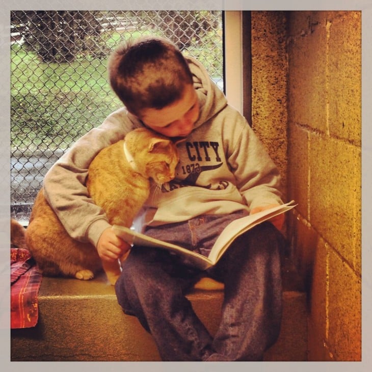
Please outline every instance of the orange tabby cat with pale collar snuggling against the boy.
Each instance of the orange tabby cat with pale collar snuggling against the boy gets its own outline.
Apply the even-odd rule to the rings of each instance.
[[[149,196],[149,179],[157,185],[170,181],[177,163],[176,146],[169,139],[145,128],[135,129],[97,154],[89,167],[86,185],[112,225],[130,227]],[[114,284],[120,275],[119,261],[101,262],[93,245],[73,240],[67,234],[43,189],[31,212],[26,244],[46,276],[88,280],[103,267]]]

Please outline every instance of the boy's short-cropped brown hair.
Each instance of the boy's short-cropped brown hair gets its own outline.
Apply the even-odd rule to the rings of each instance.
[[[168,39],[141,37],[113,51],[108,63],[110,84],[132,114],[163,109],[193,84],[188,63]]]

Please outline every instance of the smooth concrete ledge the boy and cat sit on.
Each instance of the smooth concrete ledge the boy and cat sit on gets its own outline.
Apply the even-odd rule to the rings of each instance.
[[[285,269],[284,269],[285,270]],[[289,271],[283,292],[282,330],[265,353],[267,361],[304,361],[307,355],[306,296]],[[218,328],[223,291],[194,289],[193,307],[211,332]],[[150,334],[137,318],[123,313],[104,276],[92,281],[43,278],[39,321],[11,330],[11,361],[158,361]]]

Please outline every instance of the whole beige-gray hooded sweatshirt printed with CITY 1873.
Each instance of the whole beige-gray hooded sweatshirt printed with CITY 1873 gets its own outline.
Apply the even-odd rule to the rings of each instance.
[[[177,145],[180,161],[175,179],[164,184],[160,193],[150,195],[136,219],[137,230],[198,215],[282,204],[279,172],[252,128],[227,104],[204,67],[193,58],[186,59],[194,76],[200,116],[191,134]],[[84,185],[90,162],[102,148],[141,126],[125,108],[115,111],[79,139],[46,174],[45,196],[77,240],[97,246],[102,231],[110,227]]]

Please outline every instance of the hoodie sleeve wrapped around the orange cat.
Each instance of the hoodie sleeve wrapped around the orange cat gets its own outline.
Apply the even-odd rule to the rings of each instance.
[[[45,197],[76,240],[96,246],[102,231],[111,226],[104,211],[88,195],[88,168],[101,149],[121,140],[134,127],[126,112],[118,110],[76,141],[45,175]]]

